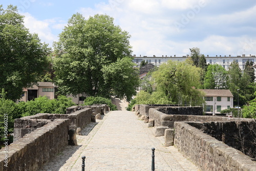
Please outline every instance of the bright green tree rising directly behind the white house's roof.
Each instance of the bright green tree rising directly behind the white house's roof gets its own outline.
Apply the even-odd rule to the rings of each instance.
[[[209,65],[204,76],[204,89],[226,89],[227,71],[218,64]]]

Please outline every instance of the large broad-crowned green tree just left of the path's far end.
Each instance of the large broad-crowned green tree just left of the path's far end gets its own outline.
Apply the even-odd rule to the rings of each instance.
[[[114,19],[108,15],[97,14],[85,19],[79,13],[74,14],[69,19],[68,26],[59,34],[59,41],[54,43],[55,80],[59,91],[63,94],[97,94],[103,97],[115,92],[120,96],[130,97],[136,87],[136,80],[133,79],[138,78],[131,70],[132,58],[128,59],[132,52],[129,38],[130,35],[115,26]],[[113,72],[110,75],[108,67],[121,66],[125,62],[129,63],[129,66],[125,66],[125,72],[131,71],[130,75],[127,72],[123,73],[122,78],[122,73]],[[122,72],[121,69],[114,70]],[[127,84],[120,83],[117,88],[113,87],[117,82],[113,76],[118,76],[117,80]],[[128,83],[128,80],[132,83]]]

